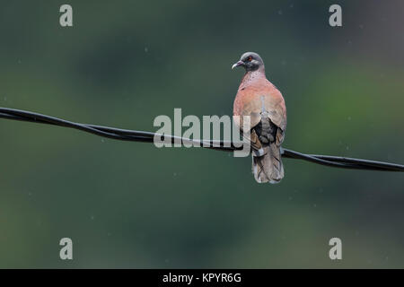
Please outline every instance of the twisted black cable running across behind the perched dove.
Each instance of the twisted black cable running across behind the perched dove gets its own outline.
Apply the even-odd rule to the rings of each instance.
[[[95,126],[88,124],[80,124],[57,117],[49,117],[38,113],[20,110],[0,108],[0,118],[20,120],[32,123],[47,124],[53,126],[65,126],[75,128],[83,132],[93,135],[100,135],[103,137],[132,142],[154,143],[154,137],[160,137],[162,141],[169,141],[171,143],[192,143],[198,144],[208,149],[214,149],[224,152],[233,152],[240,150],[236,146],[242,146],[242,143],[230,143],[224,141],[201,141],[197,139],[181,138],[173,135],[160,135],[151,132],[134,131],[127,129],[120,129],[110,126]],[[303,161],[311,161],[321,165],[351,170],[379,170],[379,171],[404,171],[404,165],[382,162],[382,161],[368,161],[361,159],[352,159],[338,156],[329,155],[315,155],[304,154],[301,152],[294,152],[288,149],[282,149],[282,157],[289,159],[298,159]]]

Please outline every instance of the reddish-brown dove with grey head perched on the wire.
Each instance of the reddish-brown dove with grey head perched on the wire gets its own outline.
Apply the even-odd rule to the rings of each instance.
[[[242,54],[232,70],[236,67],[243,67],[245,74],[234,99],[233,116],[250,116],[250,135],[243,133],[240,123],[238,126],[250,141],[252,173],[258,183],[279,183],[285,175],[281,159],[287,121],[284,97],[268,81],[259,54]]]

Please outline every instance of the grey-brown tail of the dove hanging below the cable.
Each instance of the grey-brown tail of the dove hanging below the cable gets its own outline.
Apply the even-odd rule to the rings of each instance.
[[[264,154],[260,156],[252,153],[252,173],[254,178],[259,183],[278,183],[284,178],[280,147],[276,143],[270,143],[263,147],[263,150]]]

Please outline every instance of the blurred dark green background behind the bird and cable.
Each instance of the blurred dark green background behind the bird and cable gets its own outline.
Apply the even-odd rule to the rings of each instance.
[[[403,163],[403,23],[403,1],[3,0],[0,106],[148,131],[174,108],[231,115],[252,50],[284,94],[286,148]],[[404,267],[400,173],[285,159],[259,185],[250,158],[4,119],[0,159],[3,268]]]

